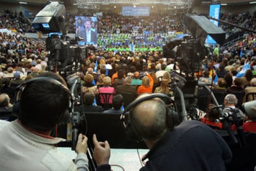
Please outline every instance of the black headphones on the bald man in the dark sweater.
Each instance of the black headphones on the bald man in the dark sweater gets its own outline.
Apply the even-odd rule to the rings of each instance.
[[[135,101],[131,102],[126,109],[124,109],[124,112],[122,113],[120,120],[122,122],[122,126],[124,127],[124,130],[126,131],[126,136],[129,140],[134,141],[141,141],[142,137],[139,135],[138,131],[134,127],[134,125],[129,120],[130,110],[140,104],[140,102],[147,101],[148,99],[153,98],[160,98],[164,104],[166,104],[166,125],[168,128],[173,128],[175,125],[178,125],[179,122],[179,115],[177,112],[170,108],[167,104],[170,104],[172,102],[171,98],[166,94],[161,93],[154,93],[150,94],[149,96],[145,96],[140,99],[136,99]]]

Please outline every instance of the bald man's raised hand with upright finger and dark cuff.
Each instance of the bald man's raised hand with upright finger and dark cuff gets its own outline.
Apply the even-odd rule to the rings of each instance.
[[[110,157],[110,147],[108,141],[99,142],[96,135],[93,135],[93,158],[98,165],[108,164]]]

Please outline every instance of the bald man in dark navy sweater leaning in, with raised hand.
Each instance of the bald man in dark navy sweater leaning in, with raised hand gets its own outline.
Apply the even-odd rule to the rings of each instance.
[[[142,98],[141,102],[135,102]],[[174,126],[173,114],[153,94],[143,94],[135,101],[134,106],[126,108],[130,108],[130,126],[126,124],[126,127],[140,136],[150,149],[142,159],[148,162],[140,170],[226,170],[224,163],[231,161],[232,153],[213,129],[195,120]],[[95,161],[101,163],[100,169],[106,170],[108,143],[98,142],[96,136],[93,143]]]

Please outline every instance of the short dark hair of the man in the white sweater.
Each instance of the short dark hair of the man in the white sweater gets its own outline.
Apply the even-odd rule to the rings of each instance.
[[[47,77],[63,79],[56,73]],[[33,130],[53,130],[69,108],[70,92],[65,87],[45,79],[28,83],[20,96],[19,119],[22,124]]]

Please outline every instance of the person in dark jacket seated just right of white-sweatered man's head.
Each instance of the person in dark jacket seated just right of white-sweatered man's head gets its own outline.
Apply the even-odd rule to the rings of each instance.
[[[83,94],[83,104],[79,106],[78,112],[103,112],[103,108],[101,106],[93,105],[94,101],[95,101],[94,93]]]

